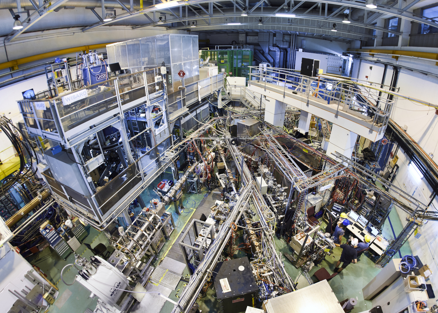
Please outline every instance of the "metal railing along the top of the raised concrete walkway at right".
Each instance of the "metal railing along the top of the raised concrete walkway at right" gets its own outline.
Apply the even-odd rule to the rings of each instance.
[[[377,128],[386,127],[396,103],[396,97],[389,90],[372,83],[354,82],[351,78],[326,75],[309,77],[283,68],[249,68],[249,85],[257,84],[265,89],[266,86],[276,85],[283,97],[286,92],[299,93],[302,101],[308,103],[311,99],[318,100],[336,110],[336,116],[343,111]]]

